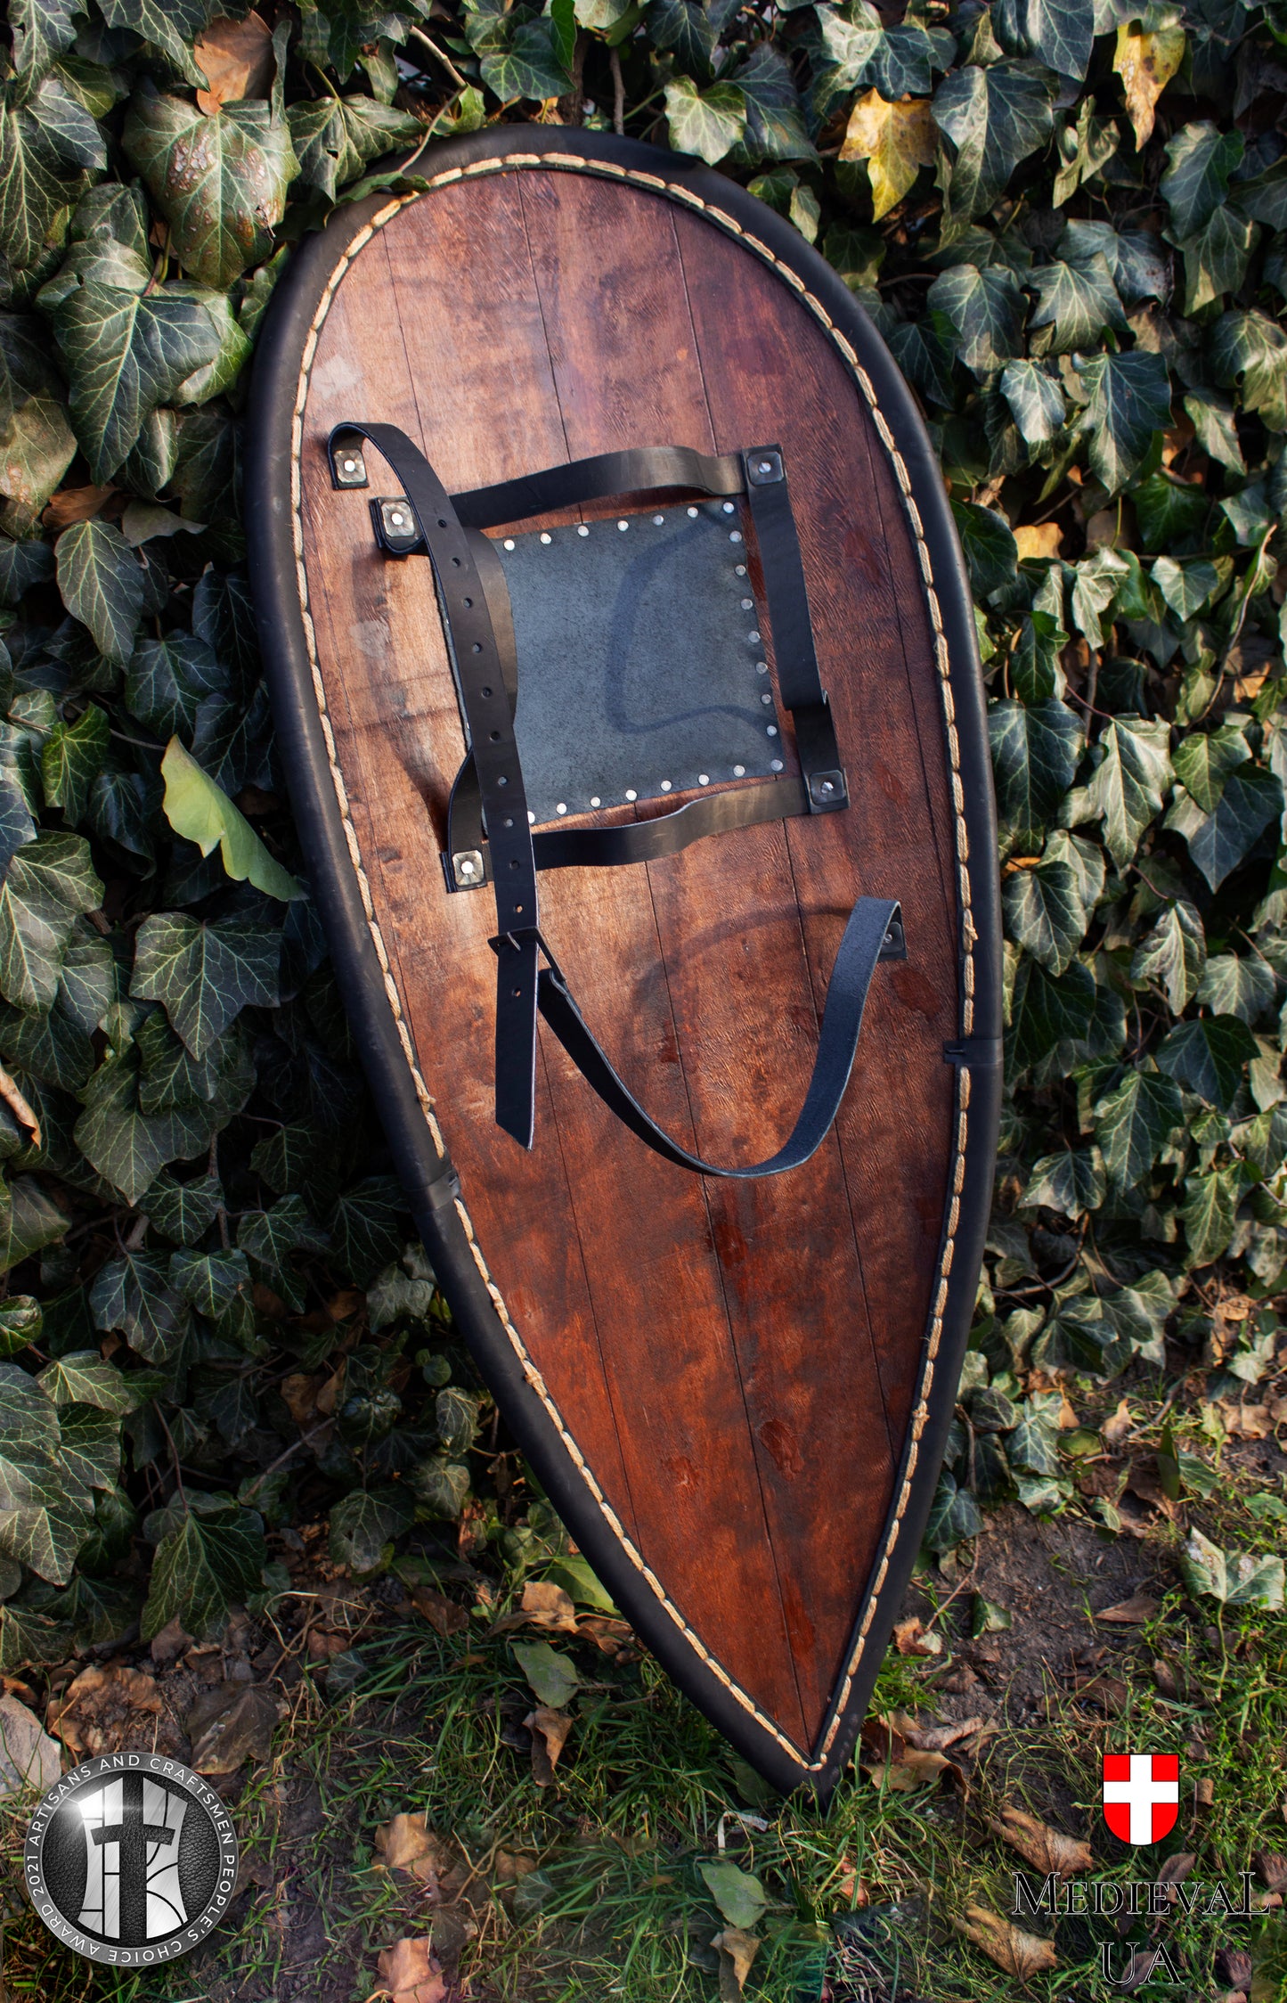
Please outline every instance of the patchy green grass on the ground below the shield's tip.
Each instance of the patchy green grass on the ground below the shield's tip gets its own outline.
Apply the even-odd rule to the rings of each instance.
[[[1231,1548],[1273,1544],[1273,1528],[1239,1496],[1235,1472],[1195,1514]],[[949,1636],[965,1606],[963,1596],[945,1614]],[[1087,1634],[1095,1638],[1091,1626]],[[1109,1636],[1101,1628],[1097,1638]],[[1151,1877],[1165,1855],[1191,1851],[1191,1881],[1237,1885],[1255,1851],[1287,1851],[1287,1614],[1221,1616],[1211,1602],[1185,1602],[1177,1586],[1145,1626],[1125,1640],[1117,1630],[1115,1650],[1107,1666],[1127,1693],[1115,1715],[1095,1715],[1049,1675],[1043,1715],[1003,1725],[973,1763],[969,1793],[949,1785],[881,1793],[859,1773],[819,1815],[769,1797],[651,1660],[614,1664],[586,1646],[572,1650],[584,1679],[572,1739],[556,1785],[540,1789],[528,1753],[510,1743],[522,1737],[516,1727],[532,1699],[508,1636],[440,1640],[424,1624],[392,1624],[362,1642],[364,1671],[344,1695],[328,1699],[310,1673],[296,1685],[276,1757],[236,1805],[260,1883],[202,1957],[124,1975],[60,1949],[26,1909],[24,1811],[10,1803],[4,2003],[362,2003],[376,1989],[380,1947],[434,1929],[444,1951],[452,1939],[462,1947],[476,2003],[713,2003],[719,1957],[711,1937],[723,1921],[697,1867],[721,1853],[721,1829],[725,1855],[755,1873],[769,1899],[747,2003],[819,2003],[825,1967],[833,2003],[891,2003],[895,1995],[1087,2003],[1121,1993],[1099,1975],[1105,1939],[1121,1969],[1121,1937],[1109,1921],[1023,1921],[1029,1931],[1053,1931],[1059,1957],[1027,1987],[963,1939],[953,1921],[965,1907],[1007,1915],[1013,1873],[1029,1869],[989,1817],[1009,1803],[1087,1837],[1093,1875],[1103,1881]],[[1169,1664],[1175,1697],[1161,1695],[1157,1660]],[[891,1654],[877,1709],[933,1713],[941,1666]],[[1181,1819],[1159,1851],[1129,1853],[1107,1833],[1099,1817],[1105,1749],[1179,1751]],[[320,1827],[296,1839],[280,1813],[288,1777],[296,1785],[310,1777],[322,1805]],[[446,1915],[414,1881],[378,1865],[374,1831],[402,1811],[424,1811],[472,1873],[466,1901]],[[859,1881],[867,1903],[855,1909]],[[1215,1951],[1253,1945],[1255,2003],[1287,1999],[1281,1917],[1205,1917],[1201,1903],[1199,1915],[1181,1915],[1165,1931],[1189,1989],[1149,1985],[1143,1993],[1219,1997]],[[294,1935],[292,1947],[286,1919],[316,1913],[324,1937],[318,1929],[300,1951]],[[1143,1945],[1147,1927],[1137,1921],[1125,1945]]]

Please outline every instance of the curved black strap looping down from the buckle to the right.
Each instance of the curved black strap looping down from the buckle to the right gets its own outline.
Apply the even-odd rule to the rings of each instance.
[[[568,991],[568,983],[554,963],[540,969],[540,1014],[608,1112],[616,1114],[655,1154],[661,1154],[667,1162],[675,1162],[677,1168],[693,1170],[697,1176],[721,1176],[737,1182],[759,1176],[783,1176],[789,1168],[801,1168],[803,1162],[817,1154],[841,1110],[859,1048],[871,977],[877,969],[881,947],[897,927],[899,905],[895,901],[889,897],[859,897],[849,913],[845,937],[831,969],[823,1028],[819,1030],[819,1050],[801,1114],[777,1154],[747,1168],[725,1168],[717,1162],[705,1162],[701,1156],[689,1154],[687,1148],[681,1148],[679,1142],[671,1140],[657,1126],[590,1036]],[[548,947],[544,951],[550,957]]]

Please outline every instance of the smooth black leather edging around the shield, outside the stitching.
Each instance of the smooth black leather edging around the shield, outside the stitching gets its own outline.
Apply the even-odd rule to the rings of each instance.
[[[987,749],[983,681],[965,565],[955,525],[921,415],[885,343],[843,280],[773,210],[737,182],[683,154],[661,152],[634,140],[568,126],[490,126],[460,140],[448,140],[424,154],[414,172],[422,176],[464,168],[500,154],[576,154],[636,172],[657,174],[689,188],[701,200],[723,208],[745,230],[759,236],[785,266],[797,272],[821,300],[869,373],[885,421],[905,457],[913,499],[931,549],[939,605],[947,631],[961,779],[971,851],[971,897],[979,941],[975,949],[975,1038],[1001,1034],[1001,889],[997,877],[997,827],[993,779]],[[640,190],[642,192],[642,190]],[[969,1336],[975,1284],[993,1194],[997,1118],[1001,1104],[999,1066],[971,1072],[971,1124],[965,1188],[957,1224],[955,1260],[949,1276],[947,1310],[939,1340],[935,1388],[921,1438],[917,1492],[903,1516],[899,1542],[885,1584],[869,1618],[867,1650],[855,1675],[845,1715],[827,1763],[809,1773],[779,1747],[771,1733],[729,1695],[721,1679],[703,1662],[673,1620],[640,1582],[634,1562],[604,1520],[580,1472],[566,1452],[552,1420],[532,1392],[520,1358],[504,1332],[494,1302],[474,1264],[458,1210],[446,1202],[448,1164],[438,1156],[420,1110],[390,1012],[384,979],[362,911],[340,811],[328,771],[326,743],[316,711],[312,671],[298,611],[294,531],[290,507],[290,433],[304,345],[326,282],[348,242],[388,204],[374,194],[348,204],[328,226],[306,238],[276,284],[258,332],[250,405],[246,415],[246,529],[256,621],[276,735],[290,779],[300,843],[308,875],[322,907],[330,953],[358,1048],[364,1054],[372,1098],[390,1154],[396,1162],[416,1226],[440,1278],[478,1370],[504,1406],[506,1422],[522,1452],[566,1520],[594,1572],[632,1620],[667,1675],[697,1703],[775,1787],[791,1791],[807,1785],[825,1801],[853,1751],[867,1699],[881,1664],[889,1628],[899,1610],[919,1538],[933,1500],[933,1474],[951,1424],[961,1356]],[[807,308],[805,308],[807,310]],[[963,1036],[957,1024],[957,1036]],[[949,1198],[951,1200],[951,1198]]]

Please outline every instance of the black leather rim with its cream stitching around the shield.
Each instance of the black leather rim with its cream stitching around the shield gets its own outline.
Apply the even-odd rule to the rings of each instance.
[[[771,262],[825,324],[867,401],[925,575],[957,817],[957,1154],[921,1348],[919,1396],[881,1554],[859,1608],[847,1675],[839,1679],[811,1749],[793,1747],[759,1713],[665,1598],[598,1494],[486,1274],[466,1206],[448,1176],[432,1100],[382,963],[378,927],[364,903],[360,853],[346,827],[342,781],[336,787],[310,659],[298,581],[294,431],[310,343],[328,294],[356,250],[404,202],[432,200],[434,186],[460,178],[524,168],[602,174],[677,200]],[[576,1544],[671,1679],[775,1787],[783,1793],[807,1787],[825,1803],[853,1753],[929,1516],[983,1260],[1001,1106],[1001,895],[983,681],[961,545],[913,395],[843,280],[789,222],[737,182],[687,156],[612,134],[492,126],[434,146],[416,162],[414,192],[380,192],[342,206],[294,252],[258,335],[246,419],[246,529],[260,649],[300,843],[310,879],[326,897],[326,937],[376,1112],[460,1334]]]

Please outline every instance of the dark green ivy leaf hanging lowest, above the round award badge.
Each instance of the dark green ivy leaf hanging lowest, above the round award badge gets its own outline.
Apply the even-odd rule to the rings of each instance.
[[[262,1582],[268,1560],[262,1516],[208,1490],[188,1492],[186,1508],[160,1514],[166,1522],[138,1624],[142,1638],[152,1640],[170,1620],[180,1620],[194,1640],[222,1634],[232,1604]]]

